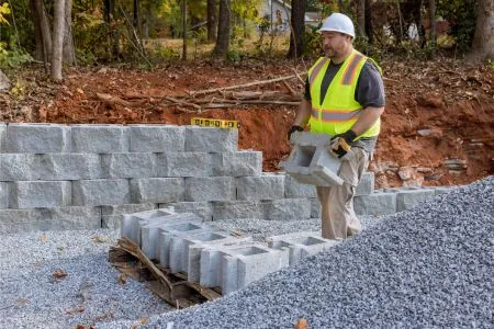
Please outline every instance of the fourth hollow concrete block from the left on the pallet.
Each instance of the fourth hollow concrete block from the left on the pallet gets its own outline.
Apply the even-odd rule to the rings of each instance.
[[[189,281],[199,281],[201,250],[203,248],[250,240],[251,237],[232,236],[228,231],[211,231],[189,237],[172,237],[170,242],[170,270],[173,273],[187,273]]]

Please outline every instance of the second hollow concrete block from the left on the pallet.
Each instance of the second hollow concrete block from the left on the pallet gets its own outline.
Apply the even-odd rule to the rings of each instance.
[[[162,217],[155,217],[145,222],[139,222],[141,226],[141,249],[149,259],[159,259],[159,239],[160,231],[170,225],[178,224],[201,224],[201,218],[198,218],[192,213],[173,214]]]

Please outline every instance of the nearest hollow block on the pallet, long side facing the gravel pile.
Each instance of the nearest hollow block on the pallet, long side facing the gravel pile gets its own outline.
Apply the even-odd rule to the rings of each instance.
[[[222,293],[228,295],[265,275],[289,265],[289,252],[268,248],[247,248],[225,256],[222,262]]]

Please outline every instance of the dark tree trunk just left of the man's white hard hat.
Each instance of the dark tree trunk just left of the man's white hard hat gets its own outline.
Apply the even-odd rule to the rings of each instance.
[[[299,58],[304,52],[305,32],[305,3],[306,0],[292,0],[292,11],[290,18],[291,34],[288,58]]]

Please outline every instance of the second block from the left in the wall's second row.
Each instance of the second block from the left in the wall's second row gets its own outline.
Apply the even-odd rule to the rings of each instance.
[[[40,155],[40,179],[76,181],[103,177],[99,155],[46,154]]]

